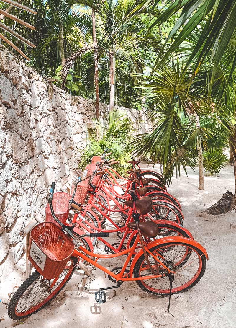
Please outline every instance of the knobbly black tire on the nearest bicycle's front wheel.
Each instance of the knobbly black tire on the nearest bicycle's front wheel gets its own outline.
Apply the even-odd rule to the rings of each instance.
[[[20,320],[20,319],[23,319],[23,318],[27,318],[27,317],[31,316],[33,313],[37,313],[38,311],[40,311],[41,309],[43,309],[53,298],[55,298],[60,293],[60,291],[66,286],[66,284],[68,283],[68,281],[70,280],[71,276],[73,275],[73,273],[74,273],[74,271],[76,269],[76,264],[78,262],[78,259],[76,257],[70,257],[69,260],[72,261],[72,263],[73,263],[73,264],[71,263],[71,270],[70,270],[69,274],[67,274],[65,276],[65,278],[62,280],[62,283],[59,284],[59,286],[53,292],[51,292],[48,297],[46,297],[46,301],[45,300],[41,301],[41,298],[40,298],[40,301],[41,302],[39,304],[42,303],[42,305],[36,305],[36,307],[37,307],[36,309],[34,309],[35,306],[29,305],[30,304],[29,303],[28,304],[28,307],[30,309],[28,311],[25,311],[25,313],[27,313],[27,314],[25,314],[25,315],[24,314],[17,315],[16,308],[17,308],[17,305],[19,303],[19,300],[21,299],[21,297],[23,296],[23,294],[27,291],[27,289],[29,289],[30,286],[34,283],[34,285],[31,287],[31,290],[28,292],[27,299],[29,298],[30,293],[32,292],[34,286],[36,285],[37,281],[40,278],[40,274],[37,271],[34,271],[21,284],[21,286],[17,289],[17,291],[12,296],[12,298],[10,300],[10,303],[9,303],[9,306],[8,306],[8,315],[9,315],[9,317],[11,319],[13,319],[13,320]],[[66,266],[65,266],[65,268],[66,268]],[[38,280],[36,281],[36,279],[38,279]],[[46,285],[46,282],[45,281],[46,280],[47,279],[43,280],[44,281],[44,283],[42,283],[43,288],[45,288],[45,285]],[[48,291],[45,289],[44,293],[47,293],[47,292]]]

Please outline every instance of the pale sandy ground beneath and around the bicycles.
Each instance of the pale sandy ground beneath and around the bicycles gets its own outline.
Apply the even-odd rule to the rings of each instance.
[[[145,167],[145,165],[143,165]],[[159,167],[156,167],[157,170]],[[219,176],[205,177],[205,190],[198,190],[198,171],[188,170],[181,181],[173,178],[169,193],[177,197],[185,216],[184,225],[207,250],[209,261],[200,282],[183,294],[172,296],[170,313],[166,297],[152,297],[143,292],[135,282],[126,282],[120,288],[107,292],[108,300],[100,306],[94,291],[111,286],[112,282],[98,269],[96,279],[88,279],[81,289],[83,275],[74,274],[66,288],[45,309],[27,318],[24,327],[94,327],[101,328],[187,328],[236,327],[236,215],[211,216],[202,213],[214,204],[227,190],[234,191],[233,167],[227,165]],[[117,263],[107,260],[109,268]],[[22,268],[21,268],[22,270]],[[24,280],[20,270],[15,270],[1,286],[0,322],[2,327],[18,323],[7,315],[8,294]]]

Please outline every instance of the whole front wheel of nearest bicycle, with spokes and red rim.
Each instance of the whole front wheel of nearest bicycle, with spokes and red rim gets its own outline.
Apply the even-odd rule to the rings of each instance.
[[[66,286],[73,275],[78,259],[70,257],[54,286],[54,279],[47,280],[34,271],[17,289],[10,300],[8,315],[13,320],[29,317],[49,303]]]

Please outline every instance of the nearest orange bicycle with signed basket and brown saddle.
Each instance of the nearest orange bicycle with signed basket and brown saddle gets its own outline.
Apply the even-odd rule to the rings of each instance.
[[[130,202],[134,222],[130,222],[128,227],[137,231],[130,248],[108,255],[89,252],[82,246],[75,249],[72,240],[78,241],[88,236],[108,236],[108,233],[74,236],[72,230],[63,225],[54,214],[54,188],[55,183],[51,186],[48,203],[54,220],[61,228],[52,222],[43,222],[30,231],[28,258],[36,271],[11,298],[8,307],[10,318],[26,318],[48,304],[67,284],[80,258],[108,274],[109,279],[116,283],[115,286],[100,288],[95,292],[98,303],[106,302],[105,290],[118,288],[126,281],[136,281],[141,289],[153,295],[169,296],[170,303],[171,294],[192,288],[203,277],[208,256],[206,249],[197,241],[185,237],[165,237],[149,243],[145,241],[145,236],[154,237],[158,234],[155,223],[139,221],[140,215],[151,209],[150,197]],[[141,248],[136,253],[138,243]],[[123,266],[111,271],[97,263],[99,258],[122,255],[127,255]],[[90,277],[94,278],[92,274]]]

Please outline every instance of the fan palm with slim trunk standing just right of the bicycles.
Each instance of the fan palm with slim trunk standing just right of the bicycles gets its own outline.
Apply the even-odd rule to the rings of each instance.
[[[186,165],[194,168],[196,149],[199,158],[199,189],[204,189],[204,171],[202,143],[215,135],[208,127],[200,125],[211,108],[202,94],[189,87],[191,77],[183,74],[178,62],[172,66],[163,65],[149,77],[144,77],[146,96],[151,98],[157,113],[156,129],[140,135],[136,152],[148,154],[154,160],[160,160],[166,182],[169,183],[176,168],[180,175],[180,166],[185,172]]]

